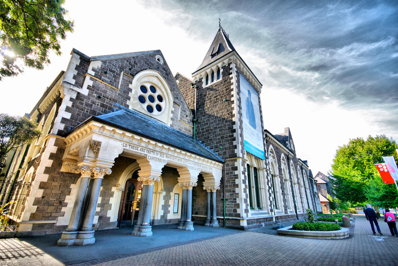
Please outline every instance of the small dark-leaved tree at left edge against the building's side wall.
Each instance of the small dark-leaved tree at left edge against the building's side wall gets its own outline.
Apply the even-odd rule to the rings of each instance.
[[[30,143],[40,135],[41,131],[37,129],[37,125],[26,117],[0,114],[0,164],[4,162],[11,149]]]

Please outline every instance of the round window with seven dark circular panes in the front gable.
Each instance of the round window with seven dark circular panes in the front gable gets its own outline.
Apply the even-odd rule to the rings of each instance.
[[[138,100],[150,114],[161,114],[164,110],[164,99],[162,92],[154,85],[144,83],[138,91]]]

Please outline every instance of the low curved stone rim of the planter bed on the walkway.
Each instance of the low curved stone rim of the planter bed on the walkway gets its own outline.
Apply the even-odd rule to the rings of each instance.
[[[278,229],[278,235],[318,239],[342,239],[349,236],[349,228],[341,228],[337,231],[298,231],[291,230],[292,227],[293,226],[288,226]]]

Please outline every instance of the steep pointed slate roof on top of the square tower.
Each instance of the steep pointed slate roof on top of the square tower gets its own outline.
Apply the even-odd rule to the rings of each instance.
[[[205,58],[203,59],[202,64],[195,70],[195,72],[234,50],[235,48],[234,46],[232,46],[228,35],[220,26],[219,30],[216,33],[216,36],[214,37],[213,42],[209,47],[209,50],[206,53]]]

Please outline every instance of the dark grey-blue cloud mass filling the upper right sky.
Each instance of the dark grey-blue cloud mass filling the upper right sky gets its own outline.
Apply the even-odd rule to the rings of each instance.
[[[264,88],[348,109],[388,111],[398,123],[397,1],[161,1],[170,23],[208,42],[217,17]],[[205,51],[204,51],[205,53]]]

